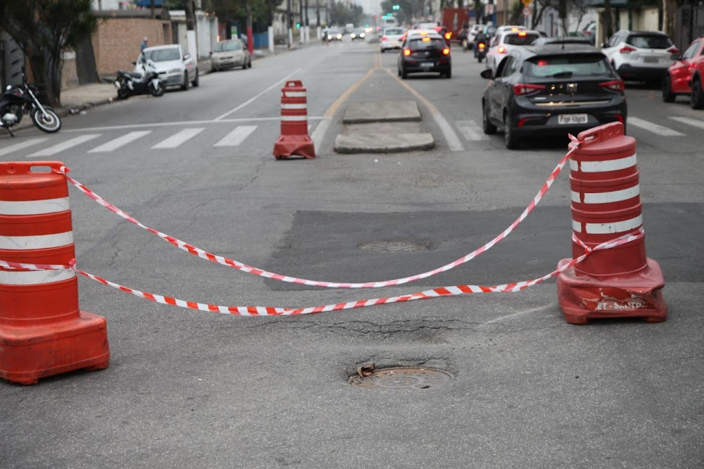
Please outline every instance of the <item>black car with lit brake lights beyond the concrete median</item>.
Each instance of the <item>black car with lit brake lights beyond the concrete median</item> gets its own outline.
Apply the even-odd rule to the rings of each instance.
[[[398,54],[398,76],[404,80],[409,73],[439,72],[441,77],[452,77],[450,46],[436,32],[408,35]]]

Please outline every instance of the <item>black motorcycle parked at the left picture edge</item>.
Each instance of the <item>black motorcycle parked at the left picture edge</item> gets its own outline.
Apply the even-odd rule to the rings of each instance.
[[[61,129],[61,119],[49,106],[44,106],[37,99],[37,87],[27,85],[27,73],[22,68],[22,85],[8,85],[0,96],[0,127],[5,127],[14,137],[10,127],[20,123],[22,116],[29,113],[32,122],[39,130],[47,133],[58,132]]]

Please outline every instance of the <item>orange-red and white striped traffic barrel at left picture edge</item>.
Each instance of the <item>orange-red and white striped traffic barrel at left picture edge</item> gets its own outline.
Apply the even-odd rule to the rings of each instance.
[[[0,163],[0,258],[68,265],[75,257],[63,163]],[[0,377],[34,384],[110,361],[106,320],[80,311],[73,270],[0,268]]]

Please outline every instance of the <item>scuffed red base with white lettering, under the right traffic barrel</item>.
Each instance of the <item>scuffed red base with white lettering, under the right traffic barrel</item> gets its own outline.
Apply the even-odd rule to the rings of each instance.
[[[562,259],[558,268],[572,259]],[[648,258],[639,272],[608,277],[591,277],[574,270],[558,275],[558,299],[562,314],[570,324],[586,324],[590,319],[643,318],[648,323],[667,319],[662,299],[660,265]]]

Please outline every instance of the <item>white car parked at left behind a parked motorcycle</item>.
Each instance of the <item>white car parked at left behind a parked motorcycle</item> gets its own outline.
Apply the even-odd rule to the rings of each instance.
[[[198,63],[180,44],[147,47],[139,53],[134,72],[142,74],[147,60],[154,63],[154,68],[168,87],[180,86],[185,91],[191,84],[194,87],[200,84]]]

